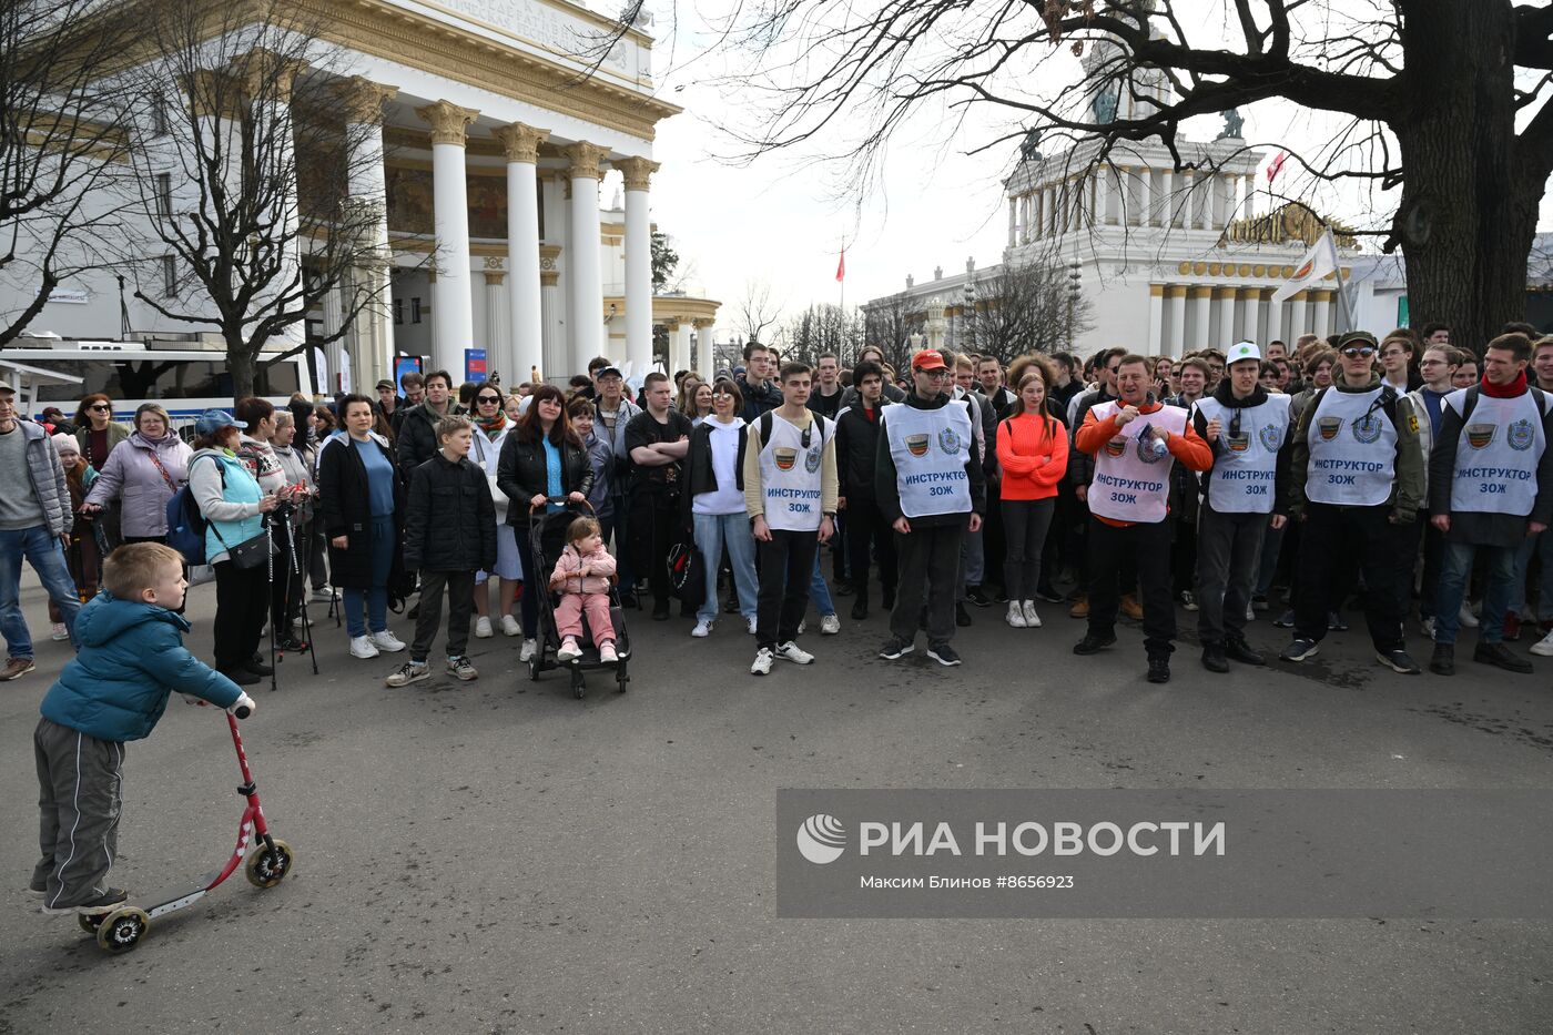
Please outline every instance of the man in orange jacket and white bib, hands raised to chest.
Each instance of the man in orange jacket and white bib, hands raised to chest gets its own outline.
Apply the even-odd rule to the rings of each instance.
[[[1075,654],[1095,654],[1117,642],[1121,563],[1134,559],[1143,597],[1143,648],[1149,682],[1169,682],[1176,650],[1176,598],[1171,594],[1169,474],[1176,460],[1207,471],[1213,451],[1186,410],[1154,396],[1149,361],[1123,356],[1117,399],[1084,415],[1073,435],[1095,457],[1089,483],[1089,631]],[[1214,429],[1210,427],[1210,432]]]

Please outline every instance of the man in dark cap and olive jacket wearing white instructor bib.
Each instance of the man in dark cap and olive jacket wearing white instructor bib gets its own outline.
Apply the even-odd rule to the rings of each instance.
[[[1289,469],[1289,516],[1305,522],[1294,594],[1294,642],[1280,657],[1301,662],[1326,636],[1328,594],[1343,550],[1359,558],[1365,622],[1376,660],[1404,676],[1418,664],[1402,637],[1404,527],[1424,496],[1418,416],[1374,370],[1368,331],[1343,334],[1339,371],[1300,412]],[[1407,566],[1412,570],[1412,564]]]

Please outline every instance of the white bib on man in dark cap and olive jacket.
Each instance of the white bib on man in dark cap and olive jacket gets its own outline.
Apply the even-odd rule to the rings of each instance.
[[[1396,427],[1381,406],[1384,387],[1322,393],[1311,415],[1305,496],[1336,507],[1379,507],[1396,480]]]

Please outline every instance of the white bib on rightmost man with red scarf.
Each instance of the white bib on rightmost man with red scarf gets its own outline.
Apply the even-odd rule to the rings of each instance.
[[[1460,416],[1466,393],[1468,389],[1452,392],[1440,406],[1449,406]],[[1451,510],[1525,518],[1537,502],[1537,463],[1544,449],[1542,410],[1530,390],[1513,399],[1478,393],[1457,441]]]

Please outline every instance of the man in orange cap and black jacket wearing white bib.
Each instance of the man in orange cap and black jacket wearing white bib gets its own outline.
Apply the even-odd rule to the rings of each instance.
[[[890,639],[879,657],[910,654],[927,603],[927,656],[958,665],[955,634],[960,545],[981,528],[986,482],[975,452],[974,401],[952,398],[952,370],[933,350],[912,356],[912,392],[879,412],[874,499],[895,528],[901,573],[890,611]]]

